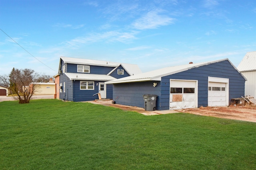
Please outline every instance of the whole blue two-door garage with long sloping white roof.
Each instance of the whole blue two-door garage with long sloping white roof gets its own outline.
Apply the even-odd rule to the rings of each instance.
[[[156,109],[228,106],[244,96],[246,78],[228,60],[186,64],[111,80],[116,104],[144,107],[144,94],[157,95]]]

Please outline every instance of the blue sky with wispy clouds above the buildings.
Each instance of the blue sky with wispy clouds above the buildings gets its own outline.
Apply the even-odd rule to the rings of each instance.
[[[256,51],[256,1],[0,0],[0,28],[0,75],[54,76],[60,56],[142,72],[225,58],[238,66]]]

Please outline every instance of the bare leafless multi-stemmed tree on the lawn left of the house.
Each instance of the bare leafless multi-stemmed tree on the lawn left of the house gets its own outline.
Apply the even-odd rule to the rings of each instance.
[[[14,95],[14,99],[18,100],[20,104],[29,103],[34,92],[40,88],[36,76],[31,69],[15,69],[13,68],[9,76],[0,76],[4,85],[7,86],[10,92]]]

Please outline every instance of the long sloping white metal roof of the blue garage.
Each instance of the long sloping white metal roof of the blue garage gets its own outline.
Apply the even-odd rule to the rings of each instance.
[[[208,64],[212,64],[212,63],[218,63],[218,62],[225,61],[225,60],[229,61],[228,59],[222,59],[222,60],[218,60],[218,61],[211,61],[211,62],[204,62],[204,63],[193,63],[193,64],[186,64],[186,65],[181,65],[181,66],[171,66],[171,67],[161,68],[158,70],[153,70],[150,72],[144,72],[144,73],[137,74],[134,76],[119,78],[119,79],[108,81],[105,83],[106,84],[115,84],[115,83],[125,83],[125,82],[143,82],[143,81],[152,81],[152,80],[160,81],[161,77],[163,77],[163,76],[168,76],[168,75],[175,74],[178,72],[183,72],[183,71],[186,71],[186,70],[189,70],[192,68],[197,68],[199,66],[204,66],[204,65],[208,65]],[[230,62],[230,64],[232,64],[232,63]],[[236,67],[233,64],[232,64],[232,66],[236,69]],[[246,80],[246,78],[245,78],[245,80]]]

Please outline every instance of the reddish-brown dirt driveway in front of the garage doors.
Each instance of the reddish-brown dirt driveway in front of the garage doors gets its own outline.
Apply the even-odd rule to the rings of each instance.
[[[180,109],[184,113],[256,122],[256,105]]]

